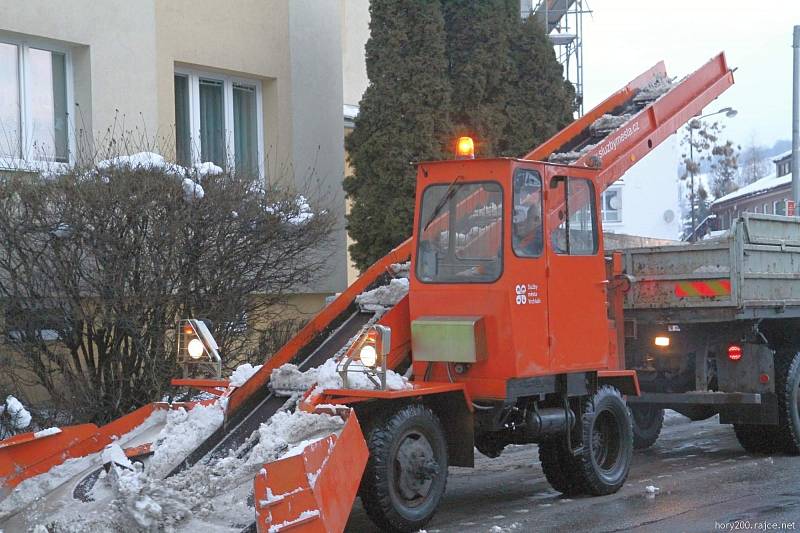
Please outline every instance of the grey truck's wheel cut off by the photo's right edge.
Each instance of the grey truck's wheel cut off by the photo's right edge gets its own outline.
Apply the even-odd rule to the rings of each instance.
[[[777,436],[781,448],[800,454],[800,353],[775,356],[775,393],[778,396]]]

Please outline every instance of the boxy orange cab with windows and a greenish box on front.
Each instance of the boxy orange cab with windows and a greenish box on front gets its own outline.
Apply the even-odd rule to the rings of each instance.
[[[594,172],[514,159],[418,166],[419,379],[505,398],[514,380],[610,367]]]

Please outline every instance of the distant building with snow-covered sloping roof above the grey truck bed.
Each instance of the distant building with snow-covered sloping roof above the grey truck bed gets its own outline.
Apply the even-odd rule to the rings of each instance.
[[[769,176],[714,200],[711,213],[716,215],[716,230],[731,227],[741,213],[788,214],[792,198],[792,152],[772,158],[775,170]]]

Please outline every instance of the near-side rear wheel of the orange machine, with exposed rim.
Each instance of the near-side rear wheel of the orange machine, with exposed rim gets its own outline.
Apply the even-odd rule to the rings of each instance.
[[[631,414],[622,394],[614,387],[600,387],[586,401],[581,424],[578,481],[594,496],[617,492],[633,458]]]

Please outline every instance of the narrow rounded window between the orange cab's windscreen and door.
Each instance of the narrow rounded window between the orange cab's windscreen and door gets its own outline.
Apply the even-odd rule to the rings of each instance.
[[[514,216],[511,244],[519,257],[539,257],[544,248],[542,230],[542,178],[535,170],[514,173]]]

